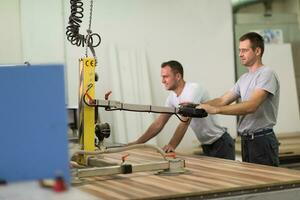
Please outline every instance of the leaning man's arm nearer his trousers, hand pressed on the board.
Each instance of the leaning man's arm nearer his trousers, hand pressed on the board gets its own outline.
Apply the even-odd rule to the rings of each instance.
[[[182,118],[182,120],[184,120],[186,122],[181,122],[177,126],[177,128],[175,130],[175,133],[174,133],[173,137],[171,138],[169,144],[167,144],[163,147],[163,150],[167,153],[172,152],[176,149],[178,144],[181,142],[183,136],[185,135],[186,130],[189,127],[189,124],[191,122],[191,118]]]

